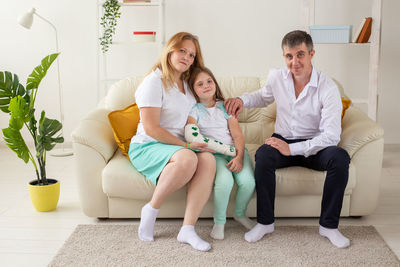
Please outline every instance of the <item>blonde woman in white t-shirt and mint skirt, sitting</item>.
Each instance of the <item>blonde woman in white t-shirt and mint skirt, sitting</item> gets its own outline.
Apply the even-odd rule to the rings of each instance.
[[[208,251],[210,244],[197,235],[194,225],[212,190],[215,159],[206,144],[183,141],[187,117],[196,103],[187,80],[194,67],[203,66],[197,37],[187,32],[171,37],[135,93],[140,122],[131,140],[129,158],[156,185],[150,202],[142,208],[139,239],[154,240],[154,224],[162,203],[188,184],[185,216],[177,239]]]

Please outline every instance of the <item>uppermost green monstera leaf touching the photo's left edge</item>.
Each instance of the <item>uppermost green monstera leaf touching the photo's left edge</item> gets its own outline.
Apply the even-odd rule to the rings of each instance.
[[[26,90],[22,84],[19,83],[18,75],[8,71],[0,72],[0,109],[3,112],[10,113],[8,109],[11,99],[16,96],[27,96]],[[27,96],[29,99],[29,95]],[[28,100],[29,101],[29,100]]]

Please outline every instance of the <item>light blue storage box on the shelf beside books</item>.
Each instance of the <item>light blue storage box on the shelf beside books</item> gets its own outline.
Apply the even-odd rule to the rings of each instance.
[[[310,35],[314,43],[350,43],[351,25],[313,25]]]

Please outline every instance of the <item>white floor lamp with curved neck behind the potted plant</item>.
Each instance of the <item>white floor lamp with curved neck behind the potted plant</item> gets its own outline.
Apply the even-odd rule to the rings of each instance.
[[[54,29],[54,32],[56,33],[56,51],[59,53],[58,50],[58,37],[57,37],[57,29],[56,27],[47,19],[43,18],[40,16],[38,13],[36,13],[36,9],[31,8],[28,10],[25,14],[23,14],[21,17],[18,18],[18,23],[27,28],[30,29],[33,23],[33,15],[36,15],[37,17],[41,18],[45,22],[51,25],[51,27]],[[63,127],[61,128],[61,136],[64,136],[64,108],[63,108],[63,101],[62,101],[62,90],[61,90],[61,81],[60,81],[60,63],[59,63],[59,58],[57,58],[57,77],[58,77],[58,101],[59,101],[59,106],[60,106],[60,121]],[[53,149],[50,151],[50,155],[55,156],[55,157],[63,157],[63,156],[70,156],[72,155],[72,149],[70,148],[65,148],[64,143],[61,144],[61,148],[59,149]]]

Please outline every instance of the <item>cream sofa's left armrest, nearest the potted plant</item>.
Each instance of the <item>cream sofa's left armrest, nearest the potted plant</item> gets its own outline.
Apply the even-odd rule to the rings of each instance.
[[[109,112],[95,109],[72,132],[78,194],[82,210],[89,217],[109,217],[102,172],[117,149],[107,118]]]

